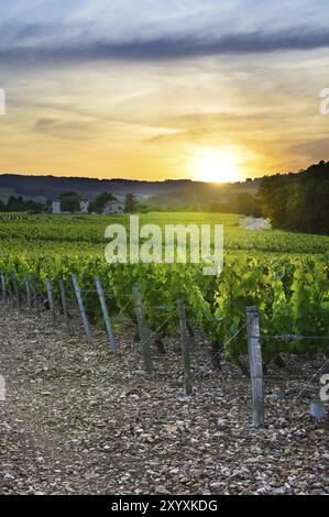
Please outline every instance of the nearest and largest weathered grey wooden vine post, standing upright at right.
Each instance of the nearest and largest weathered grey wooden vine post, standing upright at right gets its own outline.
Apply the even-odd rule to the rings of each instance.
[[[264,425],[264,382],[261,348],[260,311],[257,307],[246,308],[248,352],[252,393],[253,426]]]

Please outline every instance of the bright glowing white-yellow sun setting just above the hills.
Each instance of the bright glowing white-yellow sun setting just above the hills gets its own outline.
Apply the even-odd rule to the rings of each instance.
[[[239,155],[231,150],[202,147],[189,161],[194,179],[210,183],[240,182]]]

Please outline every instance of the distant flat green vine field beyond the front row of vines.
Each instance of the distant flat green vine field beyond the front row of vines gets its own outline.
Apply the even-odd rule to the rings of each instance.
[[[149,212],[140,215],[140,226],[154,223],[163,230],[165,224],[223,224],[227,252],[262,252],[266,254],[318,255],[329,253],[329,238],[282,231],[249,231],[240,224],[243,218],[235,215]],[[105,230],[111,223],[129,224],[129,216],[30,216],[28,213],[0,213],[1,254],[11,249],[33,254],[103,253]],[[8,250],[9,249],[9,250]],[[14,252],[14,250],[12,250]],[[87,256],[86,256],[87,257]]]

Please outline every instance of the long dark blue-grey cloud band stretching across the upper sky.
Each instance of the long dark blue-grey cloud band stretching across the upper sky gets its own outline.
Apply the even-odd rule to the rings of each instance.
[[[158,37],[127,42],[94,41],[77,45],[65,44],[14,46],[0,50],[0,61],[7,63],[86,62],[86,61],[161,61],[216,55],[244,55],[283,51],[310,51],[329,46],[329,30],[284,30],[266,34],[253,32],[202,38],[196,35]]]

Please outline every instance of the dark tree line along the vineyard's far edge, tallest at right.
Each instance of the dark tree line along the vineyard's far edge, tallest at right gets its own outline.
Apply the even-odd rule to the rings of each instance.
[[[59,196],[63,211],[79,211],[80,196],[67,191]],[[116,198],[110,193],[102,193],[90,204],[90,212],[100,212]],[[156,207],[152,202],[138,202],[133,194],[125,196],[125,212],[163,210],[172,208]],[[22,196],[10,196],[7,202],[0,200],[0,211],[51,211],[52,200],[45,204],[25,200]],[[329,234],[329,162],[321,161],[299,173],[264,176],[257,194],[241,191],[234,198],[215,204],[200,202],[182,205],[180,211],[211,211],[241,213],[265,217],[272,227],[281,230]]]

